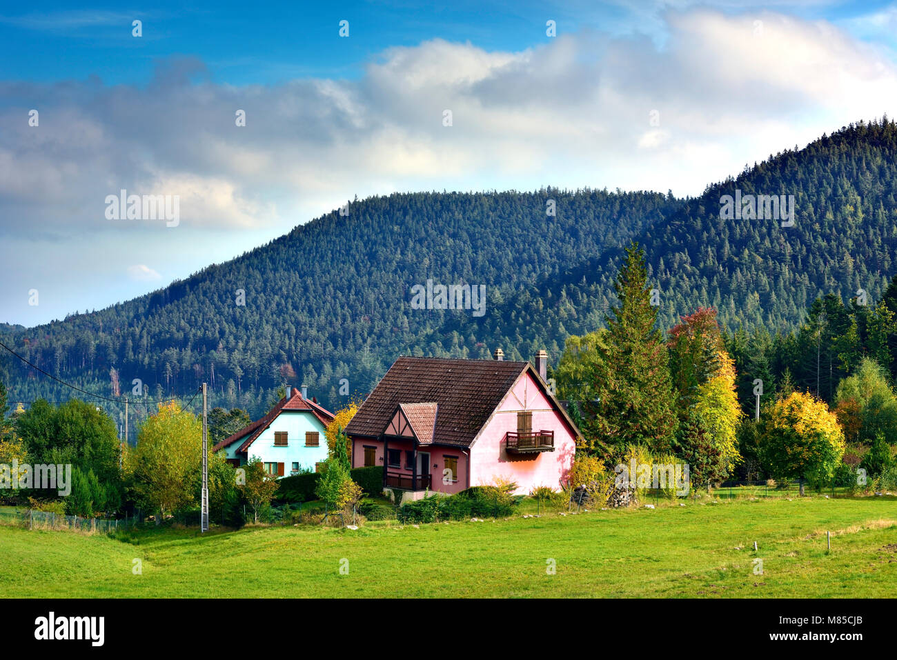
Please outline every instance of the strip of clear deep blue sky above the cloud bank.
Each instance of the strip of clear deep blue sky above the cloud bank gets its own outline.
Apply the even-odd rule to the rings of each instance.
[[[154,2],[152,9],[121,3],[73,9],[68,3],[9,6],[0,13],[4,77],[59,81],[99,76],[107,84],[145,84],[156,63],[196,56],[218,83],[273,84],[302,76],[352,78],[390,46],[433,38],[471,41],[486,50],[520,50],[544,42],[548,19],[558,30],[666,37],[658,15],[676,7],[716,6],[727,13],[762,10],[841,24],[863,36],[893,43],[893,30],[875,30],[869,17],[893,3],[849,2],[349,2],[252,4]],[[144,22],[143,39],[130,23]],[[866,20],[865,24],[859,24]],[[350,39],[337,37],[350,21]],[[851,25],[851,22],[858,22]]]

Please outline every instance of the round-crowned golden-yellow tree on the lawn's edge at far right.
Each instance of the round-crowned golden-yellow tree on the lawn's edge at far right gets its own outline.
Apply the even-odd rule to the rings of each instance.
[[[792,392],[780,398],[761,421],[761,460],[777,479],[830,482],[843,455],[838,418],[812,395]]]

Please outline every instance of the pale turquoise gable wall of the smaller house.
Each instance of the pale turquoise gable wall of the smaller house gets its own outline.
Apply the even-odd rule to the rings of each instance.
[[[293,462],[299,463],[300,469],[314,470],[315,465],[327,460],[327,438],[325,426],[311,412],[282,411],[266,430],[249,445],[245,455],[237,456],[236,450],[242,441],[224,447],[228,458],[241,458],[243,461],[258,456],[262,463],[283,463],[283,476],[290,476]],[[274,433],[287,432],[287,446],[274,447]],[[305,446],[305,432],[318,431],[318,447]],[[362,456],[363,460],[363,456]]]

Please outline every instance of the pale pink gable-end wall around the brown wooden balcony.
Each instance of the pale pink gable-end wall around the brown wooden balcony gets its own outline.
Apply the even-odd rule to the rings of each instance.
[[[554,431],[554,451],[528,456],[509,455],[505,451],[504,436],[508,431],[517,430],[518,411],[533,413],[534,431]],[[527,372],[514,384],[471,444],[470,483],[491,485],[496,476],[503,476],[517,482],[515,493],[519,495],[527,495],[537,486],[558,491],[562,482],[566,482],[575,452],[576,438],[562,413],[554,410]]]

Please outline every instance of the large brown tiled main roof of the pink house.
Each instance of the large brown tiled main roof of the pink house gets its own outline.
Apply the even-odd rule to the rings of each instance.
[[[399,358],[361,404],[346,427],[346,434],[377,438],[399,404],[435,403],[439,412],[432,441],[468,447],[527,369],[532,370],[529,362]],[[541,384],[535,370],[533,375]],[[545,395],[556,402],[546,388]],[[560,405],[558,410],[578,434]]]

